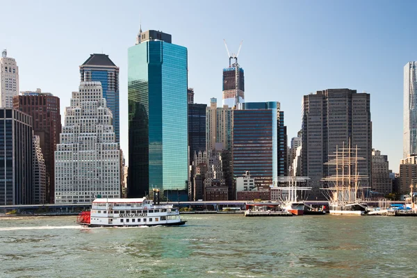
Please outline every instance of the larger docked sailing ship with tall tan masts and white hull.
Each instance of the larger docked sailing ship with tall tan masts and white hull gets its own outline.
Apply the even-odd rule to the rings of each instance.
[[[336,152],[329,155],[325,163],[334,166],[334,174],[322,179],[325,183],[325,196],[329,200],[329,213],[336,215],[363,215],[367,213],[368,205],[364,202],[361,181],[368,180],[367,175],[359,174],[358,161],[365,158],[358,157],[358,147],[336,147]]]

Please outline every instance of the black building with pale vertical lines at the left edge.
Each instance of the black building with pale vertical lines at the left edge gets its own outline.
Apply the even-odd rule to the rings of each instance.
[[[31,204],[32,117],[0,108],[0,205]]]

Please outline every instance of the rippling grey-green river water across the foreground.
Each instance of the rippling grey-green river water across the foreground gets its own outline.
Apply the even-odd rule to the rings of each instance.
[[[183,215],[183,227],[0,218],[0,277],[417,277],[417,218]]]

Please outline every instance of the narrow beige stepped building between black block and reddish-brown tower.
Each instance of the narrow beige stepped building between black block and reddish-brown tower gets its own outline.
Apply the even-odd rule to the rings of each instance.
[[[40,137],[33,136],[32,146],[32,204],[45,204],[47,201],[47,175],[45,161],[40,149]]]

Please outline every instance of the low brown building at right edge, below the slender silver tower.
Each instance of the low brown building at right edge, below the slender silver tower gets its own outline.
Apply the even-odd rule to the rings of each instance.
[[[410,193],[410,186],[417,183],[417,154],[409,154],[400,161],[400,186],[397,193]]]

